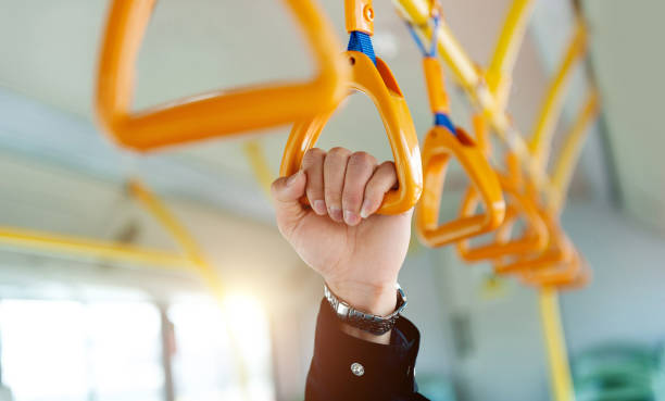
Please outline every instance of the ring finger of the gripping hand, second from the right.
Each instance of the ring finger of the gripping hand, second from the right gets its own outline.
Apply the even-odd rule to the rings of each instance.
[[[361,222],[360,211],[365,195],[365,186],[375,167],[376,159],[369,153],[355,152],[349,158],[342,190],[342,210],[344,223],[350,226]]]

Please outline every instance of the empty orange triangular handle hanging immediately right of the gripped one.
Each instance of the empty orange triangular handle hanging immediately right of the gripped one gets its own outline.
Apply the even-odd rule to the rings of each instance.
[[[423,145],[425,186],[416,208],[416,230],[429,247],[441,247],[497,228],[503,221],[505,202],[501,186],[489,162],[474,140],[461,128],[455,137],[448,128],[432,127]],[[479,193],[485,212],[466,215],[439,225],[441,193],[450,159],[460,161]]]

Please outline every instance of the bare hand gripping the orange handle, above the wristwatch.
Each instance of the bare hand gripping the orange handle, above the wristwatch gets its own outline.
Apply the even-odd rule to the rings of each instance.
[[[394,164],[365,152],[311,149],[302,170],[273,183],[277,225],[296,252],[352,306],[377,315],[396,308],[398,273],[412,211],[374,214],[398,184]],[[312,208],[304,208],[305,196]]]

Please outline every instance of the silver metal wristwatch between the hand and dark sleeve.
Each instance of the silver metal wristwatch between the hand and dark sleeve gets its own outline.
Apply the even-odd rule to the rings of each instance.
[[[337,317],[346,324],[360,328],[361,330],[371,333],[375,336],[384,335],[392,329],[394,323],[400,317],[400,313],[406,306],[406,295],[398,284],[397,286],[397,306],[394,312],[388,316],[377,316],[372,313],[355,310],[347,302],[340,300],[330,291],[328,286],[324,284],[324,295]]]

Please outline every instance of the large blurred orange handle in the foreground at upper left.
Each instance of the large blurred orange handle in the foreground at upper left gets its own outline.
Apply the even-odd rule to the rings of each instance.
[[[130,110],[135,63],[155,0],[114,0],[106,21],[97,78],[100,124],[127,148],[149,151],[250,129],[288,124],[335,106],[349,68],[341,43],[314,0],[284,0],[314,54],[311,82],[217,90],[146,111]]]

